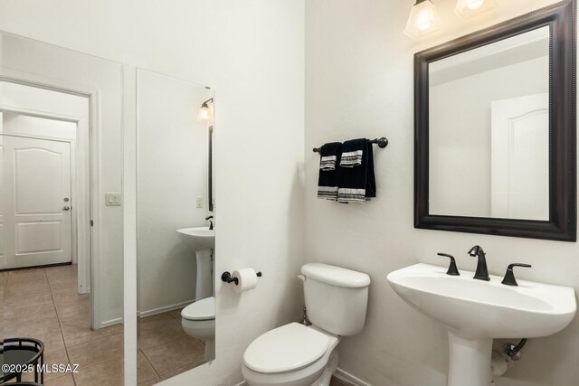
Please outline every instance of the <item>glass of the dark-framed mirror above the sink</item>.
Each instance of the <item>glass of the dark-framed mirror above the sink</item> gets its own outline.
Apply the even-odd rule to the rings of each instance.
[[[428,71],[430,214],[549,220],[549,27]]]

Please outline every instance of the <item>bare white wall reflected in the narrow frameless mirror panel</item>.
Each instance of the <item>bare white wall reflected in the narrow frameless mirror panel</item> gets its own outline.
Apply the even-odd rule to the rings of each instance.
[[[197,113],[212,91],[137,74],[138,310],[158,313],[195,300],[195,251],[176,230],[207,223],[208,128]]]

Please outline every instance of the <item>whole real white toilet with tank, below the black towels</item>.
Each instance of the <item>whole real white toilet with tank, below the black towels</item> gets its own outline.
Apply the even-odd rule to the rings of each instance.
[[[243,354],[248,386],[327,386],[341,336],[364,328],[368,275],[321,263],[306,264],[301,273],[313,325],[290,323],[255,339]]]

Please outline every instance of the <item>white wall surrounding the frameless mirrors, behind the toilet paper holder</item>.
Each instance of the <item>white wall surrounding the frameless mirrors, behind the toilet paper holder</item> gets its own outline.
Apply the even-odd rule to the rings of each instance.
[[[241,381],[247,345],[299,319],[303,304],[295,274],[304,260],[304,1],[1,0],[0,29],[126,64],[128,235],[135,226],[134,67],[216,90],[216,273],[254,267],[263,278],[241,297],[218,283],[216,361],[166,384]],[[125,297],[126,318],[137,309],[134,240],[124,246],[126,294],[133,295]]]

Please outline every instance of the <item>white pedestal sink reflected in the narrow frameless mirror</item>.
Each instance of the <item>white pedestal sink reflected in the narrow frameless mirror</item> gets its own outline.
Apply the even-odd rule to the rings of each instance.
[[[195,301],[214,296],[212,254],[215,246],[215,230],[209,227],[185,228],[177,230],[179,239],[195,249],[197,257],[197,281]]]

